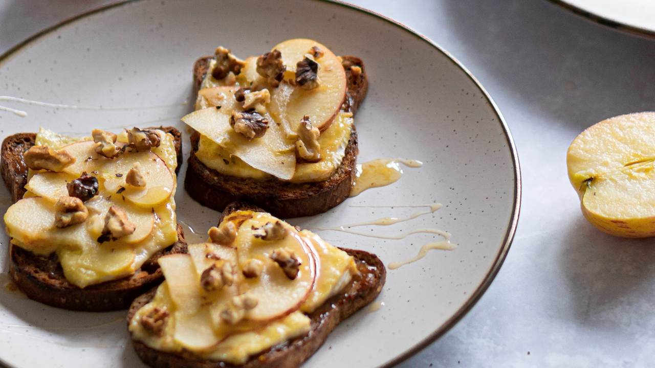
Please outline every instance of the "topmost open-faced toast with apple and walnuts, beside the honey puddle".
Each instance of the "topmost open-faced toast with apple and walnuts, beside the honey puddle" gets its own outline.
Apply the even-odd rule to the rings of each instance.
[[[239,60],[219,47],[193,67],[195,130],[185,188],[222,211],[248,200],[278,217],[343,202],[356,174],[353,114],[364,100],[362,60],[310,39]]]

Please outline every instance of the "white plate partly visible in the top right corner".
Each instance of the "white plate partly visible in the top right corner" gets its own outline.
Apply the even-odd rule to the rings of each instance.
[[[655,37],[655,2],[651,0],[552,0],[593,20],[639,35]]]

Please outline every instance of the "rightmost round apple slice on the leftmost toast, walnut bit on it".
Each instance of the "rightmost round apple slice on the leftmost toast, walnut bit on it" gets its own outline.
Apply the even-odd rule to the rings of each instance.
[[[128,172],[137,162],[141,164],[145,187],[132,187],[125,183]],[[144,208],[153,208],[168,200],[176,185],[175,177],[166,162],[150,151],[124,153],[98,172],[109,193],[121,191],[120,194],[126,200]]]

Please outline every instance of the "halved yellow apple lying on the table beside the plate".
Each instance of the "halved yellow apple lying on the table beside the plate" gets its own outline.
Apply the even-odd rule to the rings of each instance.
[[[569,179],[590,223],[615,236],[655,236],[655,113],[603,120],[569,147]]]

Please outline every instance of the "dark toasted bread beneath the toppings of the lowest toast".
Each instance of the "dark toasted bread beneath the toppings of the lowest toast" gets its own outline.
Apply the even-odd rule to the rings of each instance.
[[[244,203],[229,204],[221,214],[223,217],[237,210],[263,211],[255,206]],[[220,222],[219,221],[219,222]],[[341,248],[355,258],[360,276],[353,278],[341,293],[328,299],[314,312],[309,314],[311,329],[307,335],[291,339],[273,346],[268,350],[250,357],[243,365],[233,365],[223,361],[200,359],[190,352],[180,354],[160,352],[150,348],[140,341],[132,340],[134,350],[141,360],[154,368],[293,368],[298,367],[320,348],[327,335],[343,320],[371,303],[384,285],[386,269],[382,261],[371,253],[356,249]],[[130,323],[136,311],[149,303],[156,289],[141,295],[134,300],[128,311],[127,322]]]

